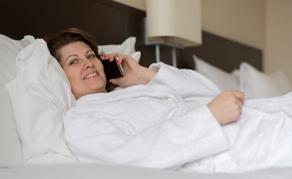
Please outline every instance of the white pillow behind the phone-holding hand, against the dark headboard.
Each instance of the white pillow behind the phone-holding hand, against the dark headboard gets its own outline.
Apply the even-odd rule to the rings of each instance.
[[[136,37],[128,37],[122,44],[108,44],[105,46],[98,46],[98,53],[115,53],[130,55],[135,52]]]

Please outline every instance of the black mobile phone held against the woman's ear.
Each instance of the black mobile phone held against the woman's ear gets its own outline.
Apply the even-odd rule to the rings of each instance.
[[[114,57],[114,61],[111,62],[109,60],[101,60],[107,81],[112,78],[120,78],[126,75],[122,64],[118,64],[118,61],[118,57]]]

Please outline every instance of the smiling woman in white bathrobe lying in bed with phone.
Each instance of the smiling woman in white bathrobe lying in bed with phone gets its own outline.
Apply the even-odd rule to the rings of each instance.
[[[255,121],[269,111],[250,102],[245,108],[251,107],[253,114],[246,109],[240,117],[243,93],[220,94],[214,83],[192,70],[178,70],[164,63],[147,69],[128,55],[100,56],[94,38],[80,29],[61,31],[46,41],[77,99],[64,117],[64,127],[68,146],[80,162],[188,171],[245,171],[292,165],[291,160],[286,161],[287,156],[292,157],[292,140],[285,146],[287,151],[280,145],[260,146],[266,140],[283,140],[277,136],[273,140],[254,139],[249,127],[243,127],[261,127]],[[126,76],[109,83],[125,88],[108,93],[101,60],[113,61],[114,56],[122,63]],[[292,133],[292,114],[287,109],[290,96],[274,100],[275,105],[288,101],[283,107],[287,115],[279,117],[287,123],[283,127],[286,133],[281,135]],[[259,118],[246,120],[253,116]],[[271,135],[275,130],[268,128],[264,132]],[[242,148],[250,143],[251,149]],[[264,155],[259,157],[258,147],[271,146],[273,150],[262,150]],[[276,151],[284,152],[285,157]],[[250,156],[240,158],[238,152]],[[266,160],[265,155],[271,153],[275,157]]]

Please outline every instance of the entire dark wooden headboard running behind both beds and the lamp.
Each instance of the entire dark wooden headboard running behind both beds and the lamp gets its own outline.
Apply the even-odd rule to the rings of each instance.
[[[145,11],[110,0],[27,0],[0,1],[0,33],[13,39],[24,35],[42,38],[69,27],[79,27],[94,35],[98,44],[119,44],[136,36],[136,50],[142,52],[140,64],[155,61],[153,46],[144,45]],[[261,51],[203,31],[203,45],[177,50],[178,68],[194,69],[192,54],[226,70],[248,61],[262,69]],[[171,49],[161,48],[161,59],[171,64]]]

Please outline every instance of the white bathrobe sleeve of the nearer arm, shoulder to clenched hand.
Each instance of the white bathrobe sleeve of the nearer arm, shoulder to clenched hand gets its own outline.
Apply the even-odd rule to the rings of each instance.
[[[65,138],[82,163],[161,169],[174,169],[226,150],[227,139],[208,107],[188,105],[183,115],[139,132],[121,120],[99,118],[89,111],[76,116],[69,110],[64,117]]]

